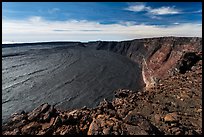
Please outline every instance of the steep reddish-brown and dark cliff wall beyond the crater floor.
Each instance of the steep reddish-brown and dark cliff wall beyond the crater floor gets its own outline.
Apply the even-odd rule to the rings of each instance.
[[[91,46],[92,43],[88,43]],[[108,50],[140,64],[146,87],[151,87],[159,79],[174,73],[184,54],[202,52],[202,38],[197,37],[159,37],[135,39],[132,41],[94,43],[97,50]]]

